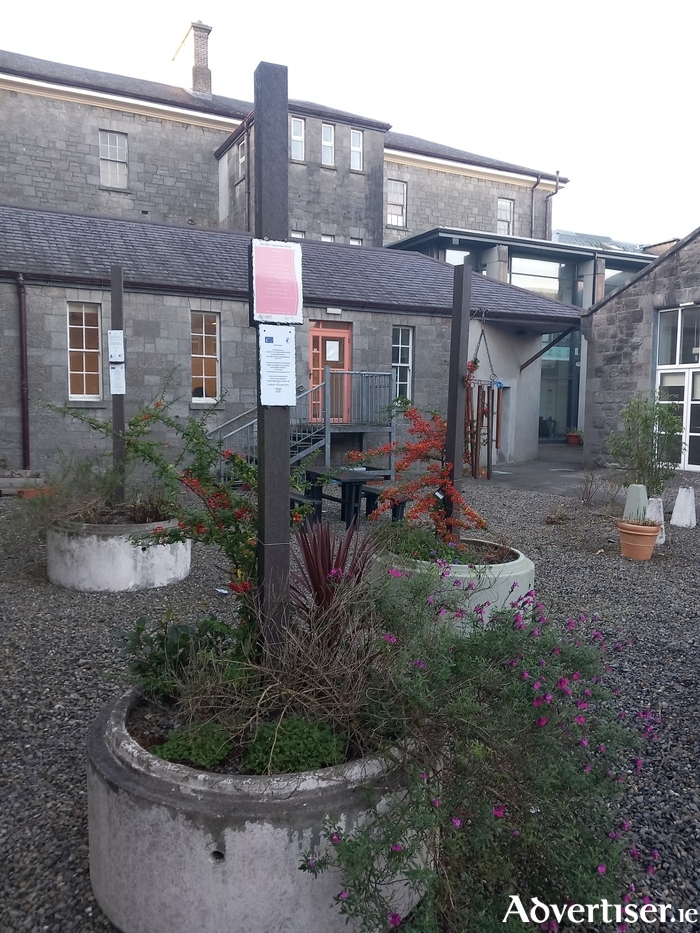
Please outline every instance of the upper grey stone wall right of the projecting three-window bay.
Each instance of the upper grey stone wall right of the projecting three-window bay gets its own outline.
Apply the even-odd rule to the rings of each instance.
[[[439,226],[496,233],[499,198],[515,202],[514,236],[534,235],[541,239],[547,236],[546,215],[551,202],[545,200],[547,192],[542,188],[534,191],[535,224],[534,234],[531,234],[530,187],[387,161],[384,165],[384,221],[387,216],[386,181],[389,179],[407,183],[407,222],[405,228],[385,224],[385,243]]]

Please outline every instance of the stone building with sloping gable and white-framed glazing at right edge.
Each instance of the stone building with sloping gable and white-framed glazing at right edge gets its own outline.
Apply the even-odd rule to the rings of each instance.
[[[631,396],[656,390],[681,408],[681,469],[700,470],[700,228],[584,311],[581,330],[588,465],[606,462],[605,439]]]

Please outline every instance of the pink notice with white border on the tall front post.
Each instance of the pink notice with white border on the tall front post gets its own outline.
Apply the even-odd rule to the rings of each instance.
[[[301,247],[253,241],[253,318],[268,324],[302,323]]]

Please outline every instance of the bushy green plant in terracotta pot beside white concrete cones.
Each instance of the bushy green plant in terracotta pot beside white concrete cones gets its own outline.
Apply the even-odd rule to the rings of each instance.
[[[647,519],[647,506],[656,499],[656,512],[663,515],[664,483],[675,474],[683,451],[683,419],[677,405],[637,392],[621,410],[620,421],[622,431],[608,435],[606,444],[628,488],[618,523],[621,546],[625,538],[623,556],[648,560],[661,525]]]

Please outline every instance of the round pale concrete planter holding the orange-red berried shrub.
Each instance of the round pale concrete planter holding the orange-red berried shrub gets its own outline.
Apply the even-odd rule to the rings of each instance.
[[[482,538],[465,538],[464,540],[466,544],[473,541],[475,543],[493,544],[494,547],[498,547],[495,542],[485,541]],[[459,592],[463,594],[464,607],[468,606],[470,609],[474,609],[475,606],[489,603],[484,610],[484,619],[488,619],[494,610],[507,607],[510,602],[527,593],[535,585],[535,565],[533,562],[522,551],[518,551],[516,548],[510,548],[509,550],[513,553],[515,559],[504,564],[449,564],[449,574],[444,578],[445,589],[454,596],[457,589],[454,583],[455,580],[459,580],[461,584]],[[433,571],[435,569],[433,562],[406,560],[405,558],[397,559],[392,563],[392,566],[408,572],[418,569],[432,569]],[[469,588],[471,583],[474,584],[473,589]],[[517,584],[515,588],[514,584]],[[470,628],[468,623],[456,621],[463,627]]]

